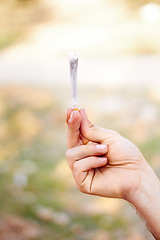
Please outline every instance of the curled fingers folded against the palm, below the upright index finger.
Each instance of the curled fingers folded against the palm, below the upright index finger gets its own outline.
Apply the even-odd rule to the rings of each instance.
[[[68,164],[80,191],[84,191],[83,183],[85,184],[88,179],[90,179],[89,182],[92,181],[94,169],[98,170],[107,164],[108,160],[105,157],[107,152],[107,145],[95,143],[67,150]]]

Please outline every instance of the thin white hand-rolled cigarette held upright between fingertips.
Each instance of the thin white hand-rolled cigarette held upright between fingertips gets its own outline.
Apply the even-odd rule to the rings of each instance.
[[[78,110],[77,98],[77,67],[78,67],[78,54],[76,52],[69,52],[70,64],[70,80],[71,80],[71,93],[73,109]]]

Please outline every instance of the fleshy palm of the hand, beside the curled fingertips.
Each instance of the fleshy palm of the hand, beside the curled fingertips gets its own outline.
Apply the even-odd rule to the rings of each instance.
[[[143,159],[142,154],[134,144],[118,134],[101,143],[109,146],[108,163],[87,172],[84,188],[90,194],[124,198],[126,191],[139,184],[138,170],[144,162],[139,160]]]

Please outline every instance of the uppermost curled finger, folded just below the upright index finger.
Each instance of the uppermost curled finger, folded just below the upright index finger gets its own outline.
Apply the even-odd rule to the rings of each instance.
[[[72,149],[68,149],[66,157],[69,167],[73,170],[73,165],[76,161],[90,156],[103,156],[108,152],[107,145],[100,145],[96,143],[81,145]]]

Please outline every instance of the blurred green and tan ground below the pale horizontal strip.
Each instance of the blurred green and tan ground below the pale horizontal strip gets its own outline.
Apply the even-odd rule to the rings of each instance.
[[[160,101],[152,92],[91,90],[83,90],[90,119],[134,141],[160,176]],[[76,189],[60,93],[65,101],[62,89],[1,86],[0,239],[152,239],[129,204]]]

